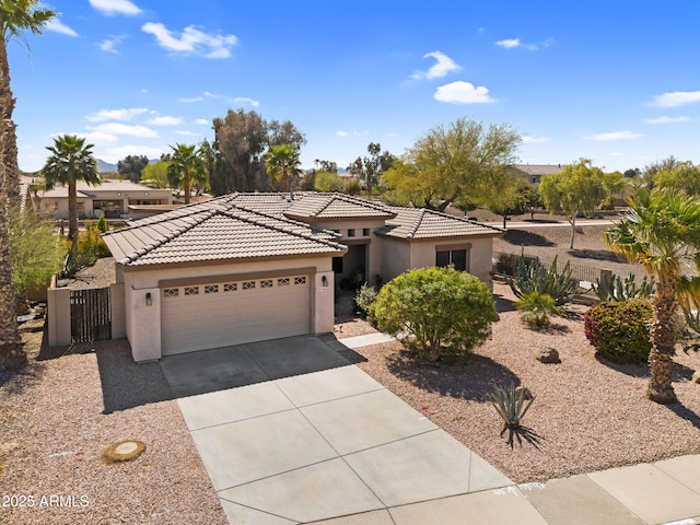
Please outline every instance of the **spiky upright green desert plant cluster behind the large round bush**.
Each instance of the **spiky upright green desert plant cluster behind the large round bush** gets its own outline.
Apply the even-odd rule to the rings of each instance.
[[[537,292],[551,296],[558,306],[571,301],[575,292],[569,262],[559,271],[557,269],[557,257],[547,268],[539,259],[529,259],[521,255],[515,275],[509,278],[508,283],[517,298]]]

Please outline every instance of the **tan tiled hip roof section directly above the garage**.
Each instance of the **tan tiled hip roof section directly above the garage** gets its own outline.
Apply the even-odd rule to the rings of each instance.
[[[129,267],[306,254],[342,254],[332,232],[245,209],[225,196],[132,221],[103,235]]]

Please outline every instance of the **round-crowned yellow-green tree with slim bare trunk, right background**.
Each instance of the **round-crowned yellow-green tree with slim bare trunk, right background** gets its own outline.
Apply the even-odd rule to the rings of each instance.
[[[545,175],[539,183],[539,195],[545,207],[553,213],[563,211],[571,223],[573,249],[579,213],[593,213],[607,195],[603,183],[603,171],[587,159],[563,166],[561,173]]]

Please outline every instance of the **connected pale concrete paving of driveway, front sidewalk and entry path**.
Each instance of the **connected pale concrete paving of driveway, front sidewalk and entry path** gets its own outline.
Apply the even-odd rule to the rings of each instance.
[[[162,360],[232,524],[700,523],[700,456],[514,485],[334,350],[374,339]]]

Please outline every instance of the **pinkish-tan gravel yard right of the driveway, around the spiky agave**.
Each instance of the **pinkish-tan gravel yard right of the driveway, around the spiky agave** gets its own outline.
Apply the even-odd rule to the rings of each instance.
[[[643,397],[645,365],[596,358],[583,334],[585,307],[568,307],[569,318],[537,332],[522,325],[508,285],[494,292],[501,318],[493,337],[465,363],[419,365],[400,345],[385,343],[357,349],[358,365],[516,482],[700,454],[700,385],[689,381],[700,354],[680,351],[675,360],[680,404],[656,405]],[[556,348],[561,363],[537,361],[540,347]],[[523,421],[528,430],[513,446],[487,401],[493,384],[511,382],[535,396]]]

